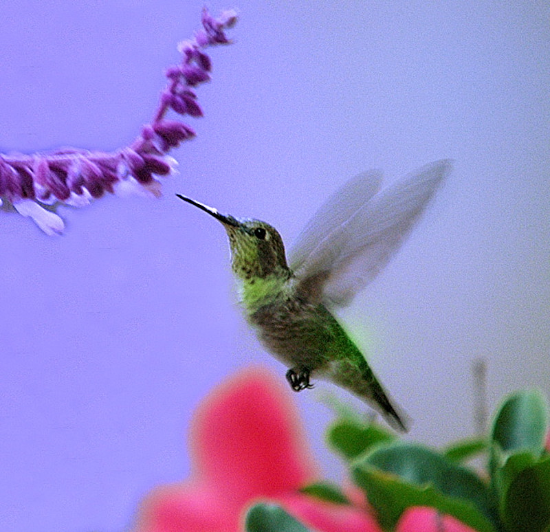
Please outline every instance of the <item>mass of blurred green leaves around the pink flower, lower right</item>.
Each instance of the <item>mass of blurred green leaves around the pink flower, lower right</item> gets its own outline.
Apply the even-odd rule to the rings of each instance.
[[[428,506],[478,532],[549,532],[547,430],[546,399],[538,390],[525,390],[503,401],[486,438],[458,441],[443,450],[399,441],[381,425],[342,412],[329,427],[327,441],[388,531],[395,530],[406,509]],[[485,456],[487,467],[467,465],[474,456]],[[327,483],[302,492],[349,503],[345,490]],[[307,529],[280,507],[256,505],[246,530]]]

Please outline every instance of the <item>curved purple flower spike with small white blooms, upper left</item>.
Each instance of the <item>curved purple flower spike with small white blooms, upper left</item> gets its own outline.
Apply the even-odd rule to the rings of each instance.
[[[236,23],[236,13],[225,11],[216,19],[205,8],[201,22],[195,38],[178,45],[181,62],[166,69],[168,85],[153,120],[130,146],[111,153],[64,148],[51,154],[0,155],[0,206],[7,201],[46,234],[60,234],[65,224],[52,212],[60,203],[83,207],[105,192],[160,197],[162,186],[155,178],[175,172],[168,152],[195,137],[190,126],[165,115],[170,109],[177,115],[203,115],[192,89],[210,80],[212,62],[203,49],[231,42],[225,30]]]

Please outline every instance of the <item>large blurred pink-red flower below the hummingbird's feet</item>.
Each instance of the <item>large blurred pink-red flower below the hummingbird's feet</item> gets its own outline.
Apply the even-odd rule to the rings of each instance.
[[[192,422],[191,478],[148,495],[135,531],[236,532],[248,508],[265,501],[316,531],[381,532],[360,507],[298,491],[320,477],[289,396],[282,381],[259,368],[214,390]]]

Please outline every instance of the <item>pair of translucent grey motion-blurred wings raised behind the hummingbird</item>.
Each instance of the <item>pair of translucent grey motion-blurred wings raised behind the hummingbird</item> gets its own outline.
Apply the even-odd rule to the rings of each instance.
[[[362,174],[344,185],[314,216],[290,254],[298,289],[327,304],[349,304],[399,250],[450,169],[450,161],[434,162],[377,194],[377,174]],[[371,177],[371,186],[361,188],[364,176]],[[331,212],[337,207],[340,212]]]

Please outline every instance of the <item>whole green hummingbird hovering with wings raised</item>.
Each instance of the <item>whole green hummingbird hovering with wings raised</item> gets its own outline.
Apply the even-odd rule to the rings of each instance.
[[[245,318],[267,351],[289,368],[292,390],[313,388],[311,377],[327,379],[407,432],[403,414],[333,312],[349,305],[390,261],[450,169],[449,160],[433,162],[384,190],[380,172],[356,176],[318,210],[288,259],[269,223],[177,197],[225,228]]]

